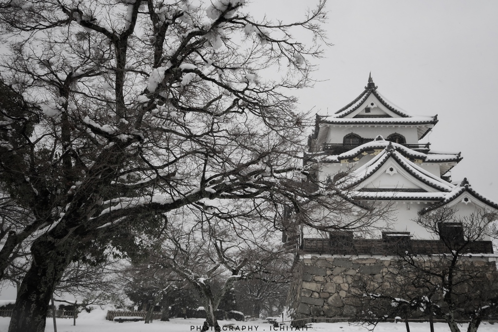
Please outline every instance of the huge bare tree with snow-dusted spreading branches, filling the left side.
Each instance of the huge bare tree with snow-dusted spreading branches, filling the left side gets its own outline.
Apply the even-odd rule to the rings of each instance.
[[[273,23],[252,18],[244,2],[0,6],[10,50],[0,66],[16,105],[0,108],[0,179],[29,216],[1,249],[0,271],[11,248],[34,240],[9,331],[43,331],[64,270],[92,241],[133,242],[129,230],[160,230],[163,214],[203,210],[207,199],[252,200],[272,223],[283,206],[333,211],[343,202],[294,181],[308,175],[300,153],[312,121],[290,91],[312,84],[310,61],[327,43],[325,3],[302,21]],[[294,29],[310,43],[294,41]],[[268,79],[275,71],[281,79]],[[315,221],[330,227],[303,217]]]

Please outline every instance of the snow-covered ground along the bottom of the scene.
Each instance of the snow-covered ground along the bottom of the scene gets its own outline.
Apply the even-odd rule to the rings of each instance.
[[[188,332],[200,331],[203,319],[172,319],[170,322],[153,321],[152,324],[145,325],[143,322],[115,323],[106,321],[107,311],[94,310],[91,313],[83,312],[76,320],[76,326],[72,326],[72,319],[57,319],[57,332]],[[0,317],[0,332],[7,332],[10,318]],[[290,326],[273,328],[262,320],[251,322],[228,322],[219,321],[222,331],[295,331]],[[231,325],[230,328],[228,325]],[[444,323],[434,324],[436,332],[450,332],[448,325]],[[461,331],[466,331],[464,324]],[[47,319],[45,332],[53,332],[52,319]],[[348,323],[317,323],[312,324],[310,328],[298,331],[320,331],[320,332],[368,332],[368,329],[362,326],[350,326]],[[377,332],[404,332],[403,323],[383,323],[379,324],[374,331]],[[429,331],[428,323],[410,323],[410,332],[427,332]],[[481,324],[479,332],[498,332],[498,324],[489,323]]]

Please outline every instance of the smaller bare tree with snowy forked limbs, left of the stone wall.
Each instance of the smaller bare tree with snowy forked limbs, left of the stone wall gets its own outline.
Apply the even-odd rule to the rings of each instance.
[[[235,212],[241,204],[230,208]],[[289,248],[273,229],[252,217],[227,221],[209,211],[169,216],[163,254],[156,264],[173,270],[197,290],[209,326],[218,325],[216,311],[235,282],[269,273],[274,260],[289,256]]]

